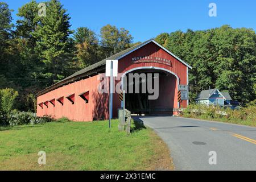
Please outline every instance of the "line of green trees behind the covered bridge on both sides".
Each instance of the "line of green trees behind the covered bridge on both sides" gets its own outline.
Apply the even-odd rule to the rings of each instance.
[[[110,24],[100,35],[88,27],[71,30],[71,17],[58,0],[46,2],[46,16],[31,1],[18,10],[0,2],[0,89],[18,90],[16,109],[34,111],[35,93],[57,81],[134,46],[125,28]],[[190,98],[202,89],[229,90],[234,100],[255,100],[256,36],[249,28],[222,26],[205,31],[176,31],[155,40],[193,67]]]

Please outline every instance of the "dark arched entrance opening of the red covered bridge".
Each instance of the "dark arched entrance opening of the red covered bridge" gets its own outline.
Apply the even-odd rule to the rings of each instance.
[[[135,78],[136,73],[138,73],[137,76],[139,75],[137,80]],[[173,113],[177,80],[174,75],[158,69],[138,69],[127,73],[126,78],[125,107],[132,114]],[[150,80],[152,80],[152,84]],[[133,90],[132,93],[131,90]]]

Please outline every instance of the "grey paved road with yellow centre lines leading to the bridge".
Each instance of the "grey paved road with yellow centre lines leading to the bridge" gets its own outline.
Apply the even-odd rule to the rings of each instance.
[[[176,170],[256,170],[256,127],[180,117],[136,117],[168,144]],[[217,164],[209,164],[216,151]]]

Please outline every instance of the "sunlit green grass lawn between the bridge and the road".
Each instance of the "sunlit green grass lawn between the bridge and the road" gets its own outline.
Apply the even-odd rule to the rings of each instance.
[[[51,122],[0,127],[0,170],[173,169],[170,151],[151,129],[133,122],[118,132],[118,121]],[[46,152],[39,166],[38,152]]]

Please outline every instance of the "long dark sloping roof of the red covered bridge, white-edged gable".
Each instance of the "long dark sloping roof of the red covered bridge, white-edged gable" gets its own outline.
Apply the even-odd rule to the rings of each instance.
[[[185,63],[185,61],[181,60],[179,57],[174,55],[174,53],[168,51],[166,48],[164,48],[163,46],[161,46],[160,44],[155,42],[154,39],[150,39],[150,40],[147,40],[146,42],[143,42],[143,43],[137,44],[137,45],[135,45],[133,47],[130,47],[130,48],[126,49],[125,51],[121,51],[119,53],[116,53],[113,56],[107,57],[104,60],[101,60],[101,61],[99,61],[99,62],[97,62],[95,64],[90,65],[89,67],[81,69],[80,71],[74,73],[73,75],[68,76],[67,78],[64,78],[63,80],[57,82],[56,84],[53,84],[53,85],[49,86],[48,88],[40,91],[37,94],[37,96],[45,94],[45,93],[47,93],[47,92],[49,92],[51,90],[54,90],[56,88],[59,88],[60,86],[67,85],[69,83],[81,80],[82,78],[85,78],[85,77],[88,77],[90,75],[93,75],[93,73],[96,73],[97,71],[103,71],[105,69],[106,60],[119,60],[122,57],[125,57],[126,55],[129,55],[131,52],[134,52],[137,49],[139,49],[139,48],[141,48],[141,47],[143,47],[146,44],[151,43],[151,42],[155,43],[157,46],[159,46],[160,48],[164,49],[164,51],[166,51],[170,55],[174,56],[177,60],[179,60],[181,63],[183,63],[189,69],[192,69],[192,67],[190,65],[188,65],[187,63]],[[97,71],[96,71],[96,69],[97,69]]]

